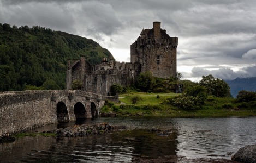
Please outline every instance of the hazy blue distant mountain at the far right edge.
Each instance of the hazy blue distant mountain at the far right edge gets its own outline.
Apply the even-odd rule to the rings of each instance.
[[[256,91],[256,77],[254,78],[236,78],[226,81],[230,86],[231,95],[236,98],[239,91]]]

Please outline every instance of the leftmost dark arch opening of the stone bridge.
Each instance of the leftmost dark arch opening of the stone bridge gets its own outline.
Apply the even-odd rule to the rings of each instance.
[[[56,112],[58,122],[70,121],[68,116],[68,109],[64,102],[60,101],[57,103]]]

